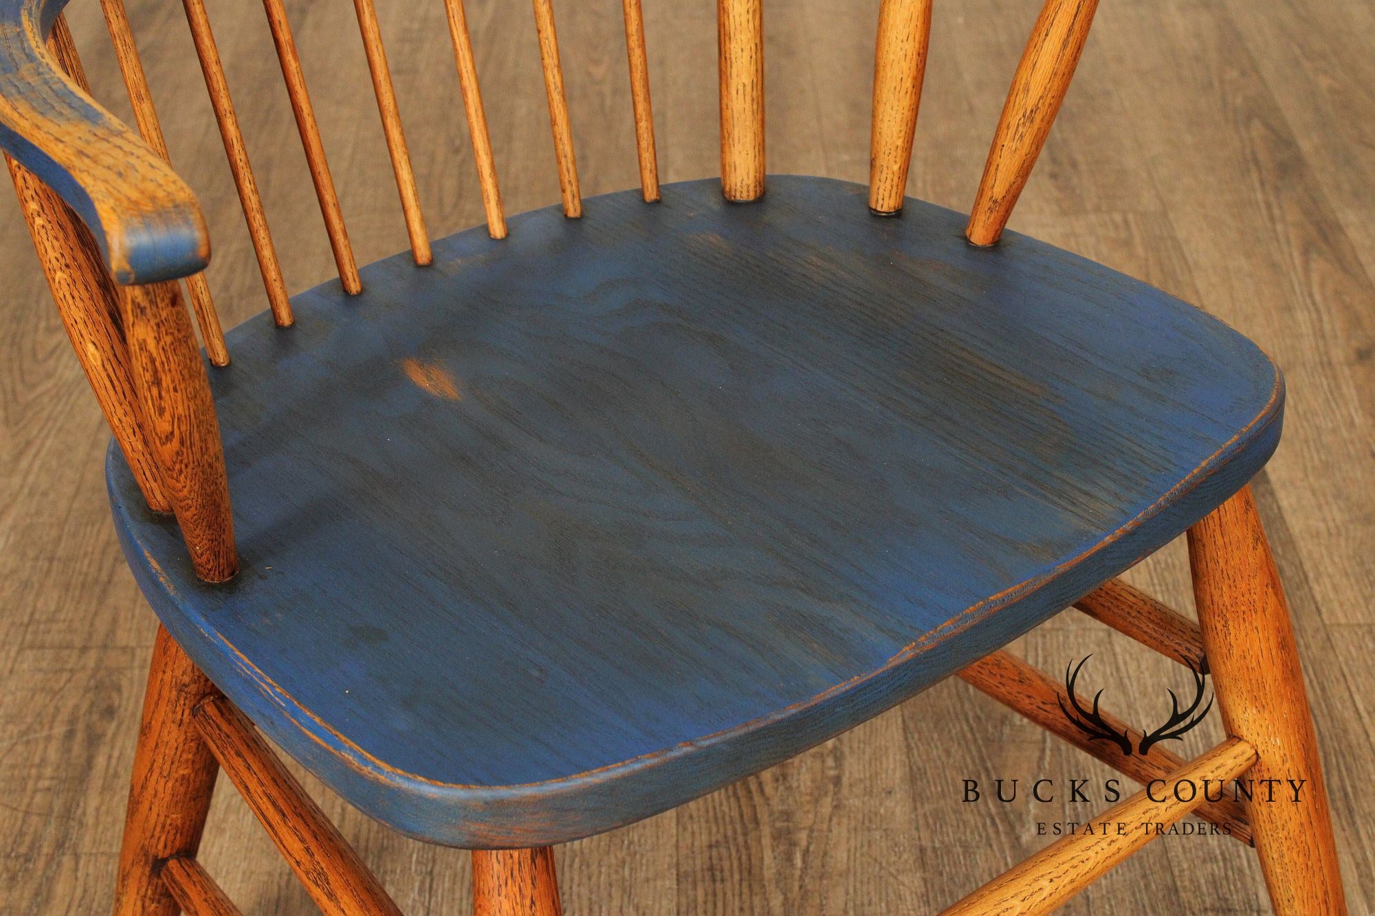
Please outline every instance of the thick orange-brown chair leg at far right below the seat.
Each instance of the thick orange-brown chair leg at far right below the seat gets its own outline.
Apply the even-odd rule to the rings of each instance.
[[[1222,722],[1228,734],[1251,743],[1260,754],[1247,778],[1276,791],[1273,802],[1258,791],[1250,806],[1275,912],[1345,913],[1294,629],[1250,487],[1199,521],[1188,541],[1199,627]],[[1295,784],[1301,787],[1297,799]]]

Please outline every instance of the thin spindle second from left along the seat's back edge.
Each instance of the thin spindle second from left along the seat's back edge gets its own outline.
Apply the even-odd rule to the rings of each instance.
[[[224,78],[220,50],[214,44],[214,33],[210,32],[210,18],[205,11],[204,0],[183,0],[183,6],[186,7],[187,25],[191,28],[195,55],[201,61],[201,73],[205,74],[205,88],[210,96],[210,106],[214,109],[214,120],[220,125],[224,157],[230,162],[234,187],[239,193],[239,205],[243,208],[243,221],[248,223],[249,238],[253,241],[258,272],[263,274],[263,287],[267,290],[267,301],[272,308],[272,320],[279,327],[287,327],[294,320],[292,300],[286,292],[286,281],[282,278],[282,265],[276,260],[276,248],[272,245],[267,215],[263,212],[263,198],[258,195],[253,166],[249,164],[249,151],[243,143],[243,132],[239,129],[239,117],[234,111],[234,99],[230,98],[230,84]]]

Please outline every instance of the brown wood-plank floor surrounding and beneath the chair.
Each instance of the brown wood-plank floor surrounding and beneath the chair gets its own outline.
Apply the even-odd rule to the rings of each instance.
[[[128,111],[95,3],[70,17],[92,83]],[[483,217],[437,0],[382,4],[432,232]],[[507,212],[558,199],[528,6],[470,0]],[[865,180],[877,3],[766,4],[769,165]],[[938,4],[909,193],[965,208],[1035,0]],[[289,3],[360,263],[406,246],[353,11]],[[331,260],[261,8],[212,4],[293,290]],[[179,4],[138,0],[172,157],[201,195],[227,326],[265,301]],[[584,194],[632,187],[619,4],[558,8]],[[666,180],[715,175],[714,4],[646,0]],[[1195,301],[1288,375],[1283,443],[1255,490],[1294,607],[1353,913],[1375,912],[1375,6],[1108,0],[1012,226]],[[337,66],[336,66],[337,65]],[[331,70],[333,67],[333,70]],[[99,94],[99,92],[98,92]],[[0,912],[106,910],[154,620],[104,502],[104,424],[0,194]],[[1181,545],[1130,574],[1189,608]],[[1104,704],[1163,721],[1178,673],[1074,612],[1013,646],[1050,671],[1093,652]],[[1218,739],[1218,717],[1187,751]],[[557,851],[569,913],[923,913],[1101,802],[962,803],[962,780],[1107,772],[960,682],[686,807]],[[397,904],[465,912],[468,855],[324,799]],[[989,792],[984,791],[984,799]],[[209,869],[249,913],[314,912],[231,791]],[[1067,912],[1268,912],[1254,855],[1170,836]]]

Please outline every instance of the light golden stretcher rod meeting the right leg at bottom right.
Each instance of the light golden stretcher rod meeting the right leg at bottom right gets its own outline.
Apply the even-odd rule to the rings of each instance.
[[[962,901],[943,910],[943,916],[1011,916],[1012,913],[1049,913],[1081,893],[1094,879],[1145,846],[1155,836],[1147,825],[1169,825],[1195,810],[1202,794],[1180,800],[1174,785],[1202,785],[1203,780],[1229,781],[1255,763],[1255,748],[1240,739],[1228,739],[1188,766],[1177,770],[1156,788],[1144,788],[1121,805],[1114,805],[1099,820],[1128,824],[1126,832],[1066,836],[1044,851],[989,882]],[[1158,800],[1159,799],[1159,800]],[[1331,910],[1328,910],[1331,912]]]

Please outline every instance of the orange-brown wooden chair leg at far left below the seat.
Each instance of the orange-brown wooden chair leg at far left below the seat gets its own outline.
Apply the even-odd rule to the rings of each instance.
[[[158,626],[114,891],[118,916],[176,916],[180,910],[158,875],[173,855],[195,857],[210,810],[217,765],[191,721],[214,686]]]

